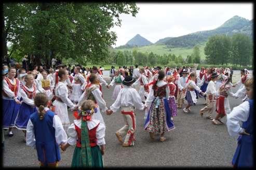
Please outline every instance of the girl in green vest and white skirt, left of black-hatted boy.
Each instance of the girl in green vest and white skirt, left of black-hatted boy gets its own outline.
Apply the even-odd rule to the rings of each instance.
[[[113,78],[113,80],[110,83],[110,87],[114,86],[114,84],[115,84],[115,88],[114,88],[113,95],[112,95],[113,101],[116,100],[118,93],[123,88],[122,82],[124,79],[125,78],[120,74],[119,70],[117,70],[115,72],[115,77]]]

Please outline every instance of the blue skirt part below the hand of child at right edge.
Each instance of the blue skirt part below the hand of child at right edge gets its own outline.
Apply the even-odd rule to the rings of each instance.
[[[253,135],[240,135],[232,164],[235,167],[253,167]]]

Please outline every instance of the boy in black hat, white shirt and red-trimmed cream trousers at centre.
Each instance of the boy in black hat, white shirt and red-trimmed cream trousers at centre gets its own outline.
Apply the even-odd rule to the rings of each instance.
[[[119,92],[115,102],[110,106],[110,110],[107,110],[107,115],[111,115],[112,112],[116,112],[121,107],[125,125],[116,132],[116,136],[124,147],[134,146],[134,133],[137,126],[134,107],[139,110],[145,109],[139,93],[131,87],[131,84],[135,81],[131,76],[125,77],[123,80],[124,88]],[[123,141],[124,136],[126,137]]]

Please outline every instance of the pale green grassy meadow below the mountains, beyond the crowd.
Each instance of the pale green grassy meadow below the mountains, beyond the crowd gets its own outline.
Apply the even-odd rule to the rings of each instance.
[[[200,55],[201,60],[205,59],[205,53],[204,53],[205,43],[199,45],[200,49]],[[153,52],[155,54],[163,55],[163,54],[175,54],[176,56],[181,55],[183,59],[186,59],[187,55],[191,55],[193,52],[193,48],[171,48],[171,51],[169,48],[167,48],[166,45],[150,45],[150,46],[144,46],[144,47],[138,47],[134,48],[137,49],[137,51],[143,52],[143,53],[150,53]],[[132,51],[133,49],[114,49],[115,51]]]

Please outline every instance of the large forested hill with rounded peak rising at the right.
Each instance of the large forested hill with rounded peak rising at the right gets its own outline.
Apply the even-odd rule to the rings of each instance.
[[[235,33],[244,33],[252,38],[252,24],[253,20],[249,21],[245,18],[234,16],[217,29],[174,37],[165,41],[164,44],[169,47],[194,47],[199,43],[207,41],[208,37],[216,34],[233,35]]]

